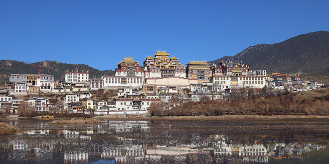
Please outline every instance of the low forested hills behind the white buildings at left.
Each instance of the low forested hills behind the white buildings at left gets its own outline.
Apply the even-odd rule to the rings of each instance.
[[[115,75],[115,71],[105,70],[100,71],[89,67],[85,64],[65,64],[56,61],[43,61],[39,62],[41,74],[53,75],[55,81],[65,79],[65,71],[87,72],[89,71],[89,77],[100,77],[104,75]],[[32,63],[39,65],[39,63]],[[9,81],[10,74],[38,74],[38,68],[32,65],[25,64],[23,62],[13,60],[0,60],[0,85],[4,85],[5,82]]]

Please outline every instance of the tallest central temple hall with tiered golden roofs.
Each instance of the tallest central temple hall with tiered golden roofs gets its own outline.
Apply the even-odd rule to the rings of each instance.
[[[185,67],[180,64],[178,58],[170,57],[166,51],[157,51],[154,57],[148,56],[144,61],[144,78],[185,78]]]

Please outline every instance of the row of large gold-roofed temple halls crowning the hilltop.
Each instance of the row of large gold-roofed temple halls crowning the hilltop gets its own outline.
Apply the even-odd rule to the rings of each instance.
[[[139,87],[144,83],[188,86],[200,82],[211,82],[217,87],[224,88],[262,88],[265,86],[265,75],[254,75],[242,62],[228,61],[216,66],[206,61],[193,60],[185,65],[181,64],[175,56],[167,54],[166,51],[157,51],[153,56],[145,58],[143,66],[133,58],[124,58],[117,65],[114,76],[92,79],[90,84],[92,89]],[[65,79],[65,81],[67,80]]]

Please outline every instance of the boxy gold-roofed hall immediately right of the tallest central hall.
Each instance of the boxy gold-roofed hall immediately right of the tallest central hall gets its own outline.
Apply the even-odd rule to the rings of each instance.
[[[186,77],[188,79],[209,80],[212,74],[210,63],[206,61],[189,61],[186,64]]]

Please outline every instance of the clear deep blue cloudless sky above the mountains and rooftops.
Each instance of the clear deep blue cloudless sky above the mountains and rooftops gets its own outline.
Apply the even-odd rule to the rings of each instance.
[[[0,0],[0,60],[114,70],[166,50],[216,60],[329,31],[329,0]]]

